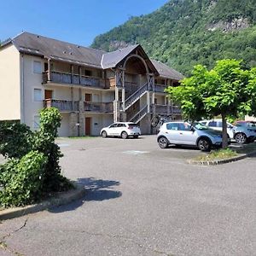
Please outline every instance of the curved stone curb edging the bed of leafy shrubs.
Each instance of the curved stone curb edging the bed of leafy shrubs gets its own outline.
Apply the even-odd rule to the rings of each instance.
[[[21,217],[29,213],[44,211],[51,207],[59,207],[61,205],[65,205],[72,201],[78,200],[85,195],[85,189],[84,186],[78,183],[76,183],[75,186],[76,189],[62,192],[57,197],[49,199],[49,201],[43,201],[41,203],[27,207],[15,207],[2,210],[0,211],[0,220]]]

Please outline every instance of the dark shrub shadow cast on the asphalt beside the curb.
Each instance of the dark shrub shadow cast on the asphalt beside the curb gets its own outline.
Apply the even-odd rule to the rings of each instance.
[[[84,197],[68,205],[53,207],[49,209],[49,212],[59,213],[73,211],[81,207],[86,201],[105,201],[118,198],[122,195],[122,192],[113,190],[114,186],[119,186],[120,183],[118,181],[84,177],[79,178],[77,183],[84,186],[86,190]]]

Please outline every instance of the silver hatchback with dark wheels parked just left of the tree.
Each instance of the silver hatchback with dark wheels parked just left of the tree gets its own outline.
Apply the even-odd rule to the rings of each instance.
[[[222,144],[222,135],[220,131],[214,131],[202,125],[188,122],[168,122],[160,127],[157,136],[157,142],[160,148],[168,148],[170,144],[175,145],[192,145],[209,151],[212,147],[220,147]]]

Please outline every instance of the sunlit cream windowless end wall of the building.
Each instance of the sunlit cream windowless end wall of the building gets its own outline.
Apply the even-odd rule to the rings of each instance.
[[[14,45],[0,49],[0,120],[20,119],[20,53]]]

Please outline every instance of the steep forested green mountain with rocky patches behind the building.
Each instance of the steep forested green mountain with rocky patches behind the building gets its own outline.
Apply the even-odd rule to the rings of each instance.
[[[95,38],[111,51],[142,44],[148,55],[189,75],[198,63],[236,58],[256,66],[256,0],[170,0]]]

